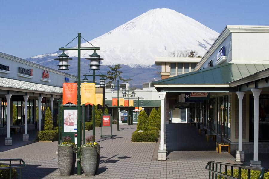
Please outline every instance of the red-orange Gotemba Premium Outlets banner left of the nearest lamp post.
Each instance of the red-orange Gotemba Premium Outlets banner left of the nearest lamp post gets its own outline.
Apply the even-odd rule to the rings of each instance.
[[[77,83],[62,83],[62,104],[77,104]]]

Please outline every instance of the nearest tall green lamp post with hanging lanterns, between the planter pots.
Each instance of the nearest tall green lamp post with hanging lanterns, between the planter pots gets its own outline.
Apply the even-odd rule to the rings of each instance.
[[[77,38],[77,47],[66,47],[68,44],[70,44],[74,39]],[[81,40],[81,33],[77,33],[77,37],[74,38],[71,42],[69,42],[65,47],[61,47],[59,48],[59,50],[62,50],[62,54],[60,56],[58,56],[59,58],[56,58],[55,60],[59,60],[59,64],[57,66],[59,66],[59,70],[68,70],[68,60],[71,60],[71,58],[68,58],[69,56],[66,55],[64,53],[65,50],[77,50],[77,148],[80,148],[81,146],[81,140],[82,140],[82,136],[81,136],[81,118],[80,118],[80,114],[81,114],[81,101],[80,101],[80,51],[81,50],[100,50],[99,47],[81,47],[80,44],[80,40]],[[83,38],[84,39],[84,38]],[[84,39],[85,40],[85,39]],[[99,55],[94,55],[94,58],[99,56]],[[90,56],[91,57],[91,56]],[[100,57],[100,56],[99,56]],[[100,63],[99,63],[100,64]],[[94,62],[93,66],[100,66],[99,64],[96,64]],[[90,62],[90,68],[91,68],[91,62]],[[62,128],[63,129],[63,128]],[[85,132],[85,131],[84,131]],[[81,175],[81,163],[80,163],[80,152],[77,152],[77,175]]]

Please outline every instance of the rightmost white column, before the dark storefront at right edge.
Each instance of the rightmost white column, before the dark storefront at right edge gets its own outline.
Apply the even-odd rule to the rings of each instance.
[[[262,90],[251,89],[254,97],[254,161],[258,161],[258,143],[259,143],[259,96]]]

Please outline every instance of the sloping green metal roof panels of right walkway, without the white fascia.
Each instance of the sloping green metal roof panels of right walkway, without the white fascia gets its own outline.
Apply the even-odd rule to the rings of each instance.
[[[226,63],[154,81],[152,84],[228,84],[268,68],[269,64]]]

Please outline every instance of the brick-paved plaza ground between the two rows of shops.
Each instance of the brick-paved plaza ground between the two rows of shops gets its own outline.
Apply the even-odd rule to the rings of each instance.
[[[102,128],[102,135],[110,135],[111,128]],[[236,163],[233,155],[215,151],[213,141],[205,142],[204,135],[189,124],[167,124],[167,160],[157,161],[159,143],[132,143],[131,135],[136,125],[112,125],[110,137],[100,137],[96,128],[96,142],[100,143],[100,165],[97,175],[86,177],[74,174],[69,177],[60,175],[57,163],[55,142],[33,142],[36,130],[29,131],[30,141],[22,141],[22,133],[11,133],[12,146],[4,145],[0,136],[0,158],[22,158],[26,167],[22,168],[22,178],[209,178],[205,170],[208,161]],[[187,133],[186,133],[187,132]],[[92,135],[91,131],[85,132]],[[263,162],[262,162],[263,163]]]

